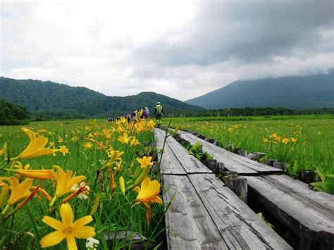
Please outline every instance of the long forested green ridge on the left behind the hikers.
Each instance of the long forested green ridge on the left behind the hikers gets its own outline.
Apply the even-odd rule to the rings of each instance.
[[[70,87],[56,82],[15,80],[6,77],[0,77],[0,98],[26,106],[32,113],[49,111],[89,116],[124,115],[145,106],[153,112],[157,101],[163,104],[167,112],[204,110],[154,92],[142,92],[125,97],[106,96],[85,87]]]

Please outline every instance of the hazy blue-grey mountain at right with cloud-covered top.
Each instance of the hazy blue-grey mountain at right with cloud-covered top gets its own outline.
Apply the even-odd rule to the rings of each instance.
[[[333,108],[334,70],[327,75],[237,80],[185,101],[203,108],[284,107]]]

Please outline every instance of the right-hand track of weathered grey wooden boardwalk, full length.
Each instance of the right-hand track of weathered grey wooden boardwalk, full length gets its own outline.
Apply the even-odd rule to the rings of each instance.
[[[203,150],[247,178],[248,199],[278,218],[299,236],[299,249],[334,249],[334,196],[315,192],[308,185],[267,165],[230,153],[187,132],[181,137],[201,142]],[[254,166],[256,165],[256,168]],[[259,170],[264,166],[264,171]],[[256,173],[252,172],[256,171]],[[274,175],[275,173],[276,175]],[[248,176],[247,176],[248,175]],[[249,176],[256,175],[256,176]]]

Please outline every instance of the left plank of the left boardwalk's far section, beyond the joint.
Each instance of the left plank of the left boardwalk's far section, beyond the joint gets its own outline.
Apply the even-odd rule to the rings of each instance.
[[[161,150],[163,147],[163,140],[165,137],[158,130],[154,130],[154,137],[156,138],[156,147]],[[162,157],[161,157],[162,156]],[[161,159],[160,171],[163,174],[186,175],[183,166],[171,151],[168,143],[165,144],[163,154],[159,151],[158,160]]]

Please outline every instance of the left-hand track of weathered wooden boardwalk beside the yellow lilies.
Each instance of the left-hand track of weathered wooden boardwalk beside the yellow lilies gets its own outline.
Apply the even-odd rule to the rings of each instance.
[[[156,129],[156,145],[163,146]],[[161,154],[159,154],[159,159]],[[291,249],[205,165],[168,137],[162,155],[168,249]]]

